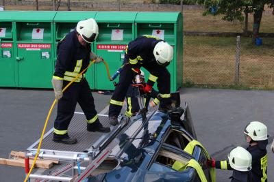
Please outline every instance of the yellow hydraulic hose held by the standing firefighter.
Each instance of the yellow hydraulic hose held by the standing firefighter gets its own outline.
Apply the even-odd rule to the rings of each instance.
[[[80,76],[82,75],[84,72],[86,72],[86,70],[88,70],[88,67],[90,67],[90,65],[92,65],[93,63],[95,63],[95,60],[94,61],[91,61],[88,66],[79,74],[77,74],[77,76],[75,78],[73,78],[73,80],[71,80],[71,82],[69,82],[68,85],[66,85],[66,87],[64,87],[64,89],[62,89],[62,92],[66,91],[66,89]],[[105,64],[105,68],[107,70],[107,73],[108,73],[108,78],[110,78],[110,71],[108,69],[108,63],[106,63],[105,61],[103,61],[103,63]],[[40,147],[42,145],[42,138],[44,137],[44,134],[45,134],[45,130],[47,129],[47,123],[49,121],[49,117],[51,116],[51,112],[53,110],[53,107],[55,106],[57,100],[55,99],[53,101],[53,103],[51,104],[51,108],[49,109],[49,113],[47,115],[47,119],[45,121],[45,125],[44,125],[44,128],[42,130],[42,134],[41,134],[41,137],[40,137],[40,141],[39,141],[39,145],[38,145],[38,149],[36,151],[36,155],[34,157],[34,162],[32,162],[32,167],[29,169],[29,173],[27,173],[27,176],[25,177],[25,180],[24,182],[27,182],[27,179],[29,179],[29,175],[32,173],[32,170],[34,169],[34,165],[36,163],[36,160],[37,160],[37,157],[38,157],[38,154],[39,154],[39,151],[40,151]]]

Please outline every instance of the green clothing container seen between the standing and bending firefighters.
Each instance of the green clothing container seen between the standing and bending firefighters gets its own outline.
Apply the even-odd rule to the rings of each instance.
[[[121,67],[125,47],[134,40],[134,20],[137,12],[98,12],[95,20],[99,25],[99,36],[95,42],[95,53],[108,62],[110,74]],[[116,78],[116,82],[119,78]],[[95,89],[113,90],[105,66],[95,65]]]

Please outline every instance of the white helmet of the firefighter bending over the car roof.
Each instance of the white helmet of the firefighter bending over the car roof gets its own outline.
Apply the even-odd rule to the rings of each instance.
[[[173,47],[167,42],[158,42],[154,47],[153,55],[158,64],[164,65],[173,59]]]

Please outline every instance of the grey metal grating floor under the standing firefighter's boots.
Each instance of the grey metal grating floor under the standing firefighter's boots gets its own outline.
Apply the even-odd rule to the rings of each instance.
[[[110,127],[108,123],[108,115],[98,115],[99,120],[103,126]],[[43,150],[54,150],[54,151],[72,151],[72,152],[83,152],[90,148],[101,136],[105,133],[100,132],[88,132],[86,130],[86,117],[84,114],[75,113],[71,124],[69,125],[69,136],[77,138],[75,145],[64,145],[62,143],[53,142],[53,129],[51,129],[44,137],[42,141],[41,149]],[[29,149],[37,149],[38,142],[29,147]]]

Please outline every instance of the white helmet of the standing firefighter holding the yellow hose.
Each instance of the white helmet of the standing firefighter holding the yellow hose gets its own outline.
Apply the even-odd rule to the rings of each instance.
[[[87,43],[92,43],[98,36],[98,25],[95,19],[89,18],[77,23],[76,31]]]

